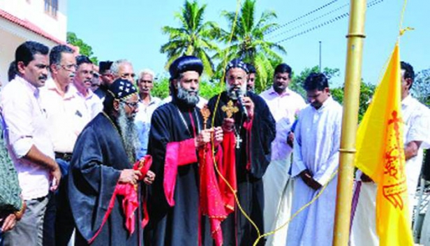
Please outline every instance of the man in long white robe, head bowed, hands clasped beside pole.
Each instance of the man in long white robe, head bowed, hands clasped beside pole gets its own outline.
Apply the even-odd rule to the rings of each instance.
[[[287,245],[332,245],[336,208],[342,106],[329,93],[323,73],[311,73],[304,82],[309,101],[295,128],[291,177],[294,178],[291,214],[324,192],[292,219]]]

